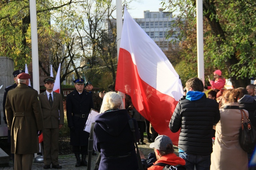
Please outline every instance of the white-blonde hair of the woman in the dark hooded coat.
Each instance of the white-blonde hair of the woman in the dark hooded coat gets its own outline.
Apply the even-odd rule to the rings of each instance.
[[[110,109],[124,109],[123,100],[116,92],[107,92],[103,98],[100,114]]]

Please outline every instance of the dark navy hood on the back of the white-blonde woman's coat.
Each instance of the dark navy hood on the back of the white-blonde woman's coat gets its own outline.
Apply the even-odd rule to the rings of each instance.
[[[118,136],[129,120],[126,109],[110,110],[95,117],[95,122],[112,136]]]

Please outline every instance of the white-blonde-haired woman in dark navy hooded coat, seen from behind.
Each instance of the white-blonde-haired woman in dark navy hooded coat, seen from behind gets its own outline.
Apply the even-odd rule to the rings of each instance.
[[[129,126],[129,115],[123,109],[123,101],[116,92],[105,94],[100,114],[95,117],[94,150],[100,152],[99,170],[137,170],[133,132]],[[132,119],[136,140],[140,133],[135,119]]]

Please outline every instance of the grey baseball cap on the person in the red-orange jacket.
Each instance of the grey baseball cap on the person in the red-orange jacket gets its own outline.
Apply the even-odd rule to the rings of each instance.
[[[155,142],[150,144],[150,148],[156,148],[159,151],[167,150],[167,145],[172,145],[172,140],[166,135],[159,135],[156,137]]]

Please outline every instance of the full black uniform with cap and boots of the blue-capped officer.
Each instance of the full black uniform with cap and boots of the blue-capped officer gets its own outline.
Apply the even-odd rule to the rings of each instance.
[[[84,79],[79,78],[73,81],[75,84],[83,84]],[[76,157],[76,167],[87,166],[85,160],[88,153],[89,133],[84,131],[90,109],[93,108],[93,99],[89,92],[83,89],[82,93],[75,89],[67,95],[66,110],[68,126],[70,128],[70,145]],[[80,160],[82,154],[82,161]]]

